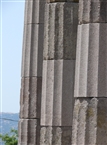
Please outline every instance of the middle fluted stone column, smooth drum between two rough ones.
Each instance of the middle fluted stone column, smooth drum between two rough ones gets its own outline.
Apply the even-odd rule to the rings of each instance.
[[[78,3],[45,5],[40,145],[70,145]]]

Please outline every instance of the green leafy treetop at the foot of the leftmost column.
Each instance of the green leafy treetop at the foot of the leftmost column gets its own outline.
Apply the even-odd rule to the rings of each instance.
[[[18,131],[11,129],[8,134],[0,134],[0,138],[5,143],[5,145],[17,145],[18,144]]]

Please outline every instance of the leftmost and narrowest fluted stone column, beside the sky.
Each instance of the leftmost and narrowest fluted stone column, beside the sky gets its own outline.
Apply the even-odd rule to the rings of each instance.
[[[40,144],[44,0],[26,0],[18,145]]]

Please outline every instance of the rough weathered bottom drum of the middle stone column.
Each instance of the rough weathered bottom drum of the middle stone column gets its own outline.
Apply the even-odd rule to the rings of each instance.
[[[71,145],[71,127],[41,127],[40,145]]]

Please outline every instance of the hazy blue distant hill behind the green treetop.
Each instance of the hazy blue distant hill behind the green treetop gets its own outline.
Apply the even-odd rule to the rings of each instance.
[[[11,129],[18,129],[19,113],[0,112],[0,134],[9,133]],[[0,145],[2,143],[0,142]]]

